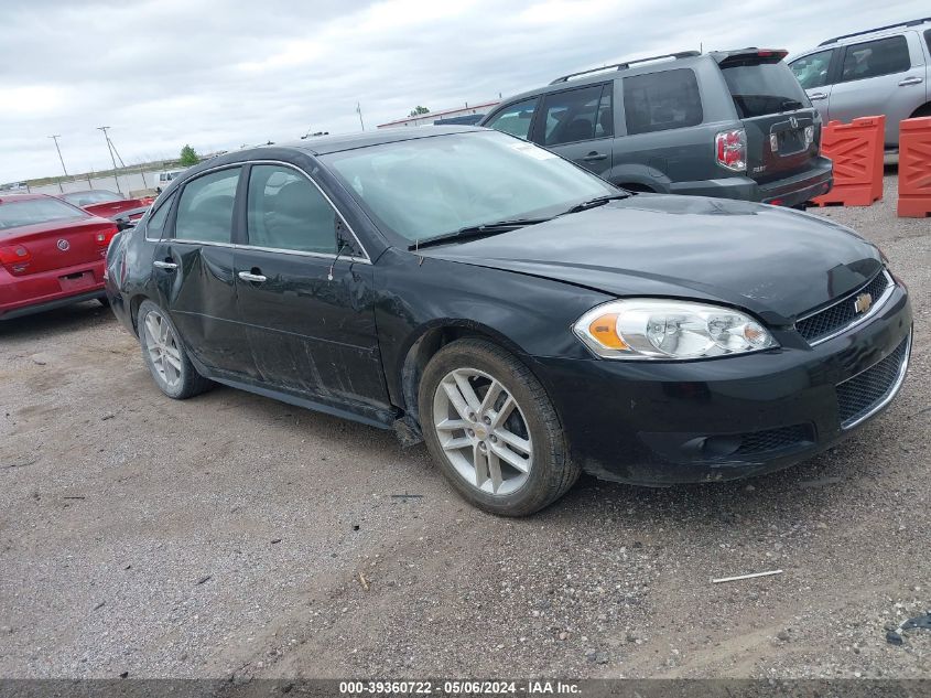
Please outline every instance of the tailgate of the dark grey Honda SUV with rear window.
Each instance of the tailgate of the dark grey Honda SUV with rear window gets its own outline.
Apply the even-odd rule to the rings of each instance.
[[[759,183],[812,167],[821,143],[821,117],[783,52],[730,54],[718,66],[747,136],[747,175]]]

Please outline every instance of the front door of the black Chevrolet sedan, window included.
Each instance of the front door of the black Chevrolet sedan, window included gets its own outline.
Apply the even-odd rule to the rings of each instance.
[[[253,164],[246,221],[235,283],[256,379],[336,407],[387,407],[374,268],[343,218],[303,171]]]

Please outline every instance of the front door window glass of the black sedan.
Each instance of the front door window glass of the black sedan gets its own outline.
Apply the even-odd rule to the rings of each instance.
[[[301,172],[284,165],[253,165],[246,207],[250,245],[336,253],[336,212]]]

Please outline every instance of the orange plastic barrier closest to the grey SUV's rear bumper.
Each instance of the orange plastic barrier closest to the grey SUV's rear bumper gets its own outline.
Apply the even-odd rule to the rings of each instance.
[[[883,198],[886,117],[860,117],[849,124],[830,121],[821,133],[821,152],[834,163],[834,189],[814,203],[869,206]]]

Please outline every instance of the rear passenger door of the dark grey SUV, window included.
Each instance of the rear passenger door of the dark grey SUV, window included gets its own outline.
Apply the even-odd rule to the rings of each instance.
[[[611,169],[614,83],[543,96],[532,140],[595,174]]]

